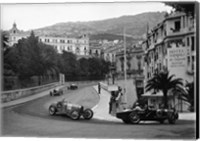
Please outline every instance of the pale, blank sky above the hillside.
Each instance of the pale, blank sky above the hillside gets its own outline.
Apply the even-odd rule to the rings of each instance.
[[[171,9],[161,2],[5,3],[1,5],[1,29],[11,29],[14,22],[18,29],[26,31],[60,22],[94,21]]]

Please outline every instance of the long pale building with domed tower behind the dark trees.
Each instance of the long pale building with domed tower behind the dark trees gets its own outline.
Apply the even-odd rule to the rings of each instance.
[[[19,39],[27,38],[29,35],[17,29],[14,23],[12,29],[9,31],[10,45],[14,45]],[[53,37],[53,36],[39,36],[39,41],[52,45],[58,53],[63,50],[72,52],[78,56],[89,55],[89,38],[87,35],[80,37]]]

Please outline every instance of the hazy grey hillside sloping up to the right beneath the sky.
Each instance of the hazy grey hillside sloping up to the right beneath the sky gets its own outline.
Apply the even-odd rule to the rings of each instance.
[[[100,21],[90,22],[66,22],[57,23],[52,26],[35,29],[38,35],[54,35],[54,36],[67,36],[67,35],[80,35],[87,33],[91,38],[98,37],[97,35],[122,35],[124,27],[126,28],[126,35],[134,37],[135,39],[141,38],[147,30],[147,24],[151,29],[156,24],[164,19],[165,12],[148,12],[134,16],[122,16],[119,18],[112,18]],[[102,37],[100,35],[100,37]],[[95,36],[95,37],[93,37]]]

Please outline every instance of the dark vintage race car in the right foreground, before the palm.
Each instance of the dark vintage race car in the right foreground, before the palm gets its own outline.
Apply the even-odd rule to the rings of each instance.
[[[124,123],[137,124],[141,120],[152,120],[164,123],[168,120],[170,124],[175,124],[178,119],[178,113],[174,109],[157,109],[157,110],[125,110],[116,114],[117,118],[122,119]]]

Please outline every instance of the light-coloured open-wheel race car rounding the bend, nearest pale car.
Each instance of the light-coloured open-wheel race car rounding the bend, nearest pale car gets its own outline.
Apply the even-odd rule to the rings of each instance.
[[[89,108],[84,108],[81,105],[72,104],[71,102],[63,99],[49,106],[49,114],[65,114],[73,120],[78,120],[81,116],[84,119],[91,119],[93,117],[93,111]]]

